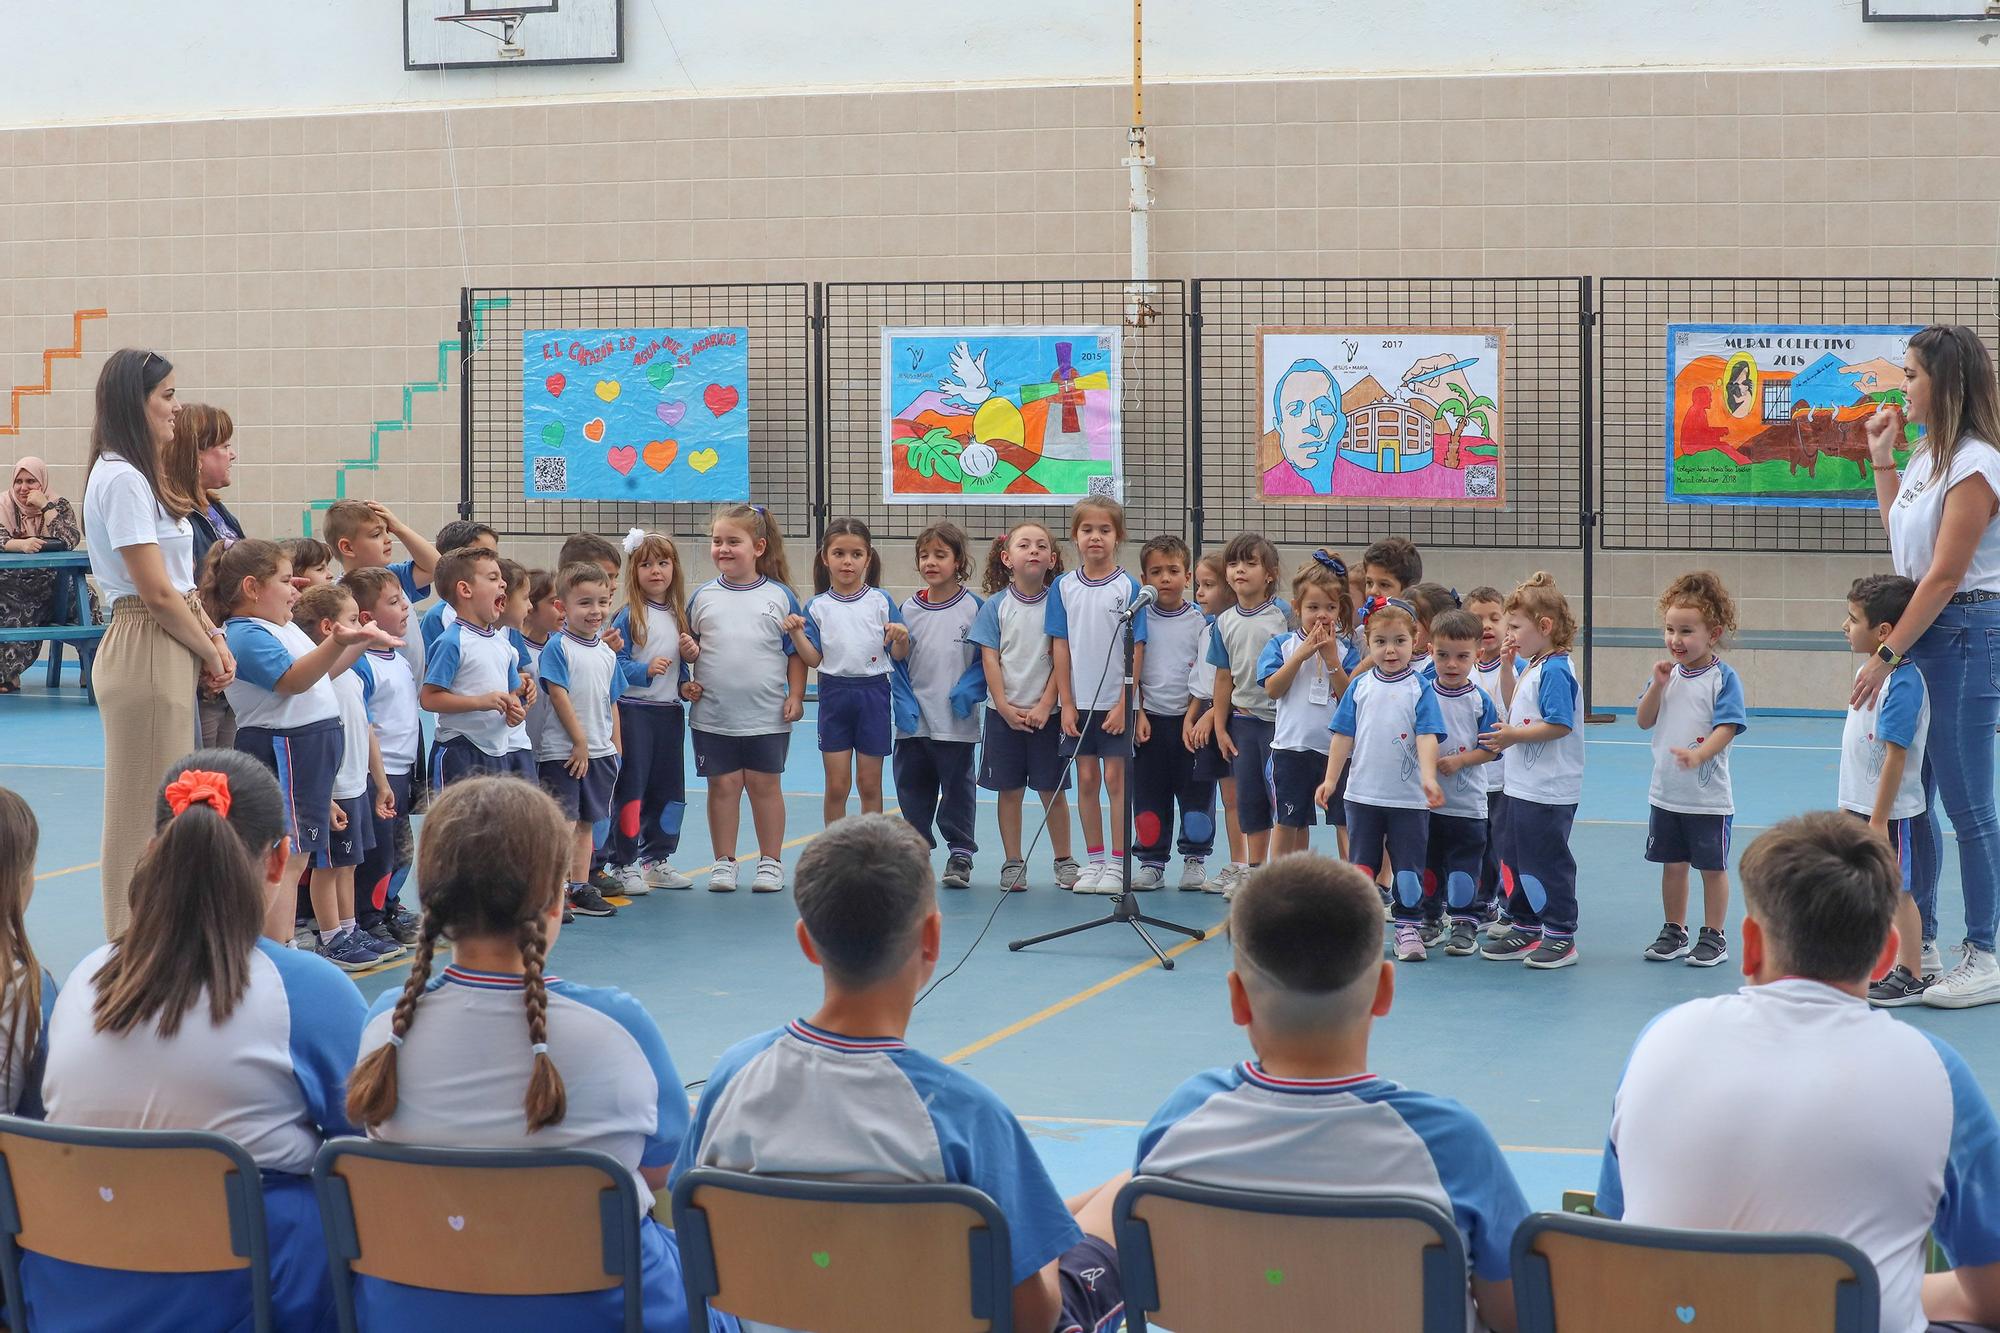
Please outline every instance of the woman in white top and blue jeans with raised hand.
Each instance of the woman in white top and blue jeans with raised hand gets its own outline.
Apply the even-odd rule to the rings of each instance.
[[[2000,819],[1994,815],[1994,723],[2000,721],[2000,386],[1978,334],[1932,324],[1904,354],[1904,400],[1868,418],[1868,458],[1896,572],[1916,596],[1878,658],[1854,679],[1866,707],[1904,656],[1930,689],[1924,797],[1916,857],[1936,883],[1942,857],[1938,797],[1958,833],[1966,891],[1966,945],[1952,971],[1924,991],[1938,1009],[2000,1001],[1994,919],[2000,913]],[[1894,450],[1904,418],[1922,426],[1902,472]],[[1926,875],[1920,871],[1918,879]]]

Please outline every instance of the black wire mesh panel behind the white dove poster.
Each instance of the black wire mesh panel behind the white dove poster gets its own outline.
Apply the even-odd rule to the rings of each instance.
[[[882,328],[974,328],[982,324],[1122,330],[1120,438],[1126,524],[1136,538],[1188,530],[1188,306],[1182,282],[1154,282],[1154,310],[1126,324],[1124,280],[1048,282],[828,282],[824,290],[826,516],[860,518],[876,540],[912,540],[950,518],[974,546],[1014,522],[1038,518],[1060,530],[1066,508],[994,504],[890,504],[882,494]],[[1136,558],[1126,552],[1128,564]]]

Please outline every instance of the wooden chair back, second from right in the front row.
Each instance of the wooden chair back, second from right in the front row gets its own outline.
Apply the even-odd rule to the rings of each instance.
[[[1138,1175],[1112,1205],[1126,1327],[1464,1333],[1466,1245],[1434,1203]]]

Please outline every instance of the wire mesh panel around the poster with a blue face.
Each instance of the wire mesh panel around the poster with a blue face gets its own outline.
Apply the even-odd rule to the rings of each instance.
[[[1202,278],[1194,284],[1200,532],[1358,548],[1402,532],[1426,546],[1582,546],[1588,452],[1584,278]],[[1276,422],[1258,328],[1502,326],[1504,508],[1272,504],[1258,440]]]

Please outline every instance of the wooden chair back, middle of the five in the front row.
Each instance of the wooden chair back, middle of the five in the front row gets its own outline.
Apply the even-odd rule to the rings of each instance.
[[[674,1233],[696,1327],[710,1305],[814,1333],[1014,1327],[1006,1217],[970,1185],[698,1167],[674,1181]]]

